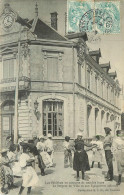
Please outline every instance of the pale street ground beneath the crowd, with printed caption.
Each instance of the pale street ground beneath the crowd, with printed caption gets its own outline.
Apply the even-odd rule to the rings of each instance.
[[[92,162],[92,153],[88,152],[89,162]],[[118,194],[122,195],[124,189],[124,178],[120,186],[116,186],[117,174],[114,175],[115,180],[105,181],[107,166],[105,161],[102,164],[102,169],[97,167],[87,171],[85,179],[77,181],[76,172],[71,167],[64,168],[64,154],[62,152],[54,153],[54,167],[45,170],[46,175],[41,176],[40,169],[36,164],[36,172],[39,176],[37,186],[32,188],[31,195],[83,195],[83,194]],[[116,168],[114,165],[114,170]],[[9,195],[18,195],[21,179],[15,178],[15,184],[18,186],[9,191]],[[25,188],[22,195],[27,194]],[[2,193],[0,193],[2,195]]]

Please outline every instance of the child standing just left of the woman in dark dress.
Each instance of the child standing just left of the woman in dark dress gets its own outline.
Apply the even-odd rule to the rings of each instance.
[[[72,167],[72,151],[71,151],[71,146],[70,146],[70,137],[66,136],[65,141],[64,141],[64,167],[67,167],[68,164],[68,159],[70,163],[70,167]]]

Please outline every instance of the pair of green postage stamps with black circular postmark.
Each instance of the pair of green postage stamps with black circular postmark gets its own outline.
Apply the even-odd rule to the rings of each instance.
[[[68,0],[68,32],[120,33],[119,1]]]

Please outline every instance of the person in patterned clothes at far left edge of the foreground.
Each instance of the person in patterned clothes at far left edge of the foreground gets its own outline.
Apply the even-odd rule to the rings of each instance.
[[[10,161],[7,156],[7,149],[1,151],[1,165],[0,165],[0,177],[1,177],[1,191],[8,194],[9,188],[13,186],[13,172],[10,168]]]

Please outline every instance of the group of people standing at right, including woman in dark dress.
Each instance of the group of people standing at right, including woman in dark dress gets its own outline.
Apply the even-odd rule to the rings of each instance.
[[[117,130],[116,136],[111,136],[111,129],[105,127],[104,139],[100,135],[96,135],[90,143],[83,140],[81,133],[77,134],[77,139],[74,141],[74,147],[69,144],[70,137],[65,137],[64,142],[64,167],[69,160],[70,167],[72,167],[72,152],[74,151],[73,169],[77,172],[77,180],[79,180],[79,171],[82,172],[82,179],[84,179],[85,171],[94,167],[94,163],[98,163],[98,168],[102,168],[101,164],[105,156],[108,167],[106,181],[114,179],[113,160],[116,162],[118,171],[117,185],[121,184],[122,174],[124,172],[124,130]],[[85,149],[86,148],[86,149]],[[92,150],[92,164],[89,165],[87,151]],[[104,152],[104,155],[103,155]]]

